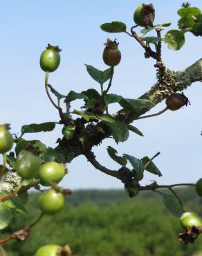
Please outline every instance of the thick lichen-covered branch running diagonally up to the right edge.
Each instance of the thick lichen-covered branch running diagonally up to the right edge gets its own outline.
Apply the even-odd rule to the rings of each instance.
[[[158,70],[158,82],[154,84],[149,91],[140,96],[139,99],[150,100],[154,104],[158,104],[165,100],[171,93],[183,91],[187,89],[193,82],[202,82],[202,59],[192,64],[183,71],[170,71],[165,69],[163,75]],[[134,113],[121,109],[113,116],[117,120],[125,121],[127,124],[133,122],[138,117],[142,116],[147,111]],[[127,118],[126,117],[127,114]],[[103,132],[100,132],[100,127]],[[73,158],[80,156],[84,151],[89,151],[93,146],[102,143],[102,140],[111,136],[111,130],[104,122],[99,122],[97,125],[87,125],[82,128],[81,136],[85,137],[84,144],[80,143],[80,138],[72,140],[60,140],[59,145],[55,148],[58,152],[57,161],[60,163],[70,163]],[[79,134],[80,135],[80,134]]]

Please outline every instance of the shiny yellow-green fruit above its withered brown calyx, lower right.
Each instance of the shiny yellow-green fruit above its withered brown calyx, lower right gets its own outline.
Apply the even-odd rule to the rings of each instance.
[[[181,226],[183,228],[191,228],[192,226],[202,226],[201,217],[194,212],[184,212],[181,215]]]

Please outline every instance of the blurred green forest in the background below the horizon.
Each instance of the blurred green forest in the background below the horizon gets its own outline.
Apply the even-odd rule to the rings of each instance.
[[[202,215],[202,199],[194,188],[177,190],[186,211]],[[28,225],[39,214],[38,192],[30,194],[28,214],[17,214],[1,230],[1,238]],[[179,220],[154,192],[130,199],[124,190],[78,190],[66,196],[66,208],[45,216],[25,242],[4,245],[10,256],[33,256],[46,244],[69,244],[77,256],[192,256],[202,252],[202,235],[194,244],[178,242]],[[199,254],[197,254],[199,253]],[[44,255],[46,256],[46,255]]]

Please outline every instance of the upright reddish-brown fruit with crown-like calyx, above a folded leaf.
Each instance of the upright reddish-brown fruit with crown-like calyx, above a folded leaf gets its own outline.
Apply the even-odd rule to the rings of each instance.
[[[109,38],[107,39],[107,44],[104,44],[106,47],[104,48],[102,58],[104,63],[108,66],[116,66],[119,64],[121,60],[121,53],[118,50],[118,43],[116,40],[111,41]]]

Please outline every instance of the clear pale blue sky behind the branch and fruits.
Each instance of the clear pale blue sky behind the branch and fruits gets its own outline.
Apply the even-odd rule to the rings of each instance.
[[[50,84],[62,94],[88,88],[99,89],[86,73],[84,63],[105,69],[102,51],[107,37],[117,38],[122,51],[122,61],[116,68],[111,93],[137,98],[155,82],[154,60],[145,60],[143,49],[131,37],[108,34],[100,25],[110,21],[123,21],[130,28],[133,13],[139,0],[35,0],[1,1],[1,123],[9,122],[12,132],[17,133],[21,125],[32,122],[57,121],[57,111],[48,101],[44,91],[44,72],[39,68],[39,56],[50,43],[62,48],[61,65],[50,75]],[[176,28],[182,1],[152,1],[156,9],[155,24],[172,22]],[[191,1],[192,6],[202,9],[201,0]],[[181,51],[170,51],[163,46],[163,60],[168,68],[181,70],[201,58],[201,37],[186,35],[186,44]],[[156,180],[161,184],[195,182],[202,176],[202,129],[201,95],[202,84],[196,82],[185,91],[192,103],[179,111],[167,111],[160,117],[137,120],[134,125],[144,137],[131,134],[125,143],[116,145],[105,140],[93,149],[102,165],[118,168],[107,155],[106,147],[116,147],[119,154],[126,153],[141,158],[153,156],[160,151],[156,165],[163,177],[145,174],[143,184]],[[77,109],[82,102],[73,104]],[[152,113],[165,107],[165,102],[152,109]],[[118,110],[114,106],[112,111]],[[40,139],[46,145],[55,146],[61,136],[57,127],[51,133],[31,134],[27,139]],[[87,163],[83,156],[68,165],[71,170],[62,185],[68,188],[122,188],[120,181],[102,174]]]

